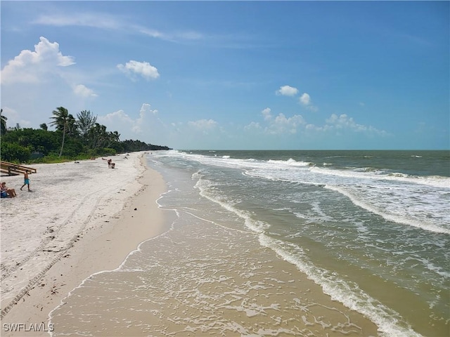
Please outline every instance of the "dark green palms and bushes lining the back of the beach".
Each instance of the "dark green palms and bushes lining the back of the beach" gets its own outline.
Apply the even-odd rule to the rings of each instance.
[[[120,140],[120,133],[107,131],[97,123],[90,110],[83,110],[75,118],[65,107],[52,112],[49,131],[43,123],[39,129],[6,128],[7,117],[0,110],[0,157],[4,161],[18,163],[53,162],[62,160],[89,159],[112,156],[117,153],[153,150],[172,150],[167,146],[152,145],[140,140]]]

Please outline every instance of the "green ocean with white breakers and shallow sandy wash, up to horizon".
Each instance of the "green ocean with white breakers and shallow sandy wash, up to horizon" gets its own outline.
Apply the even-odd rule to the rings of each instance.
[[[449,336],[450,152],[171,150],[147,160],[168,186],[158,204],[169,230],[72,291],[52,313],[60,329]]]

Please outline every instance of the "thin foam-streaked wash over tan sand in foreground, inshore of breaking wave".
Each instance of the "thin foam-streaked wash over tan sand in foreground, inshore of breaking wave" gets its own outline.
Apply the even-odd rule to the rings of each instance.
[[[51,316],[55,336],[378,335],[255,233],[197,217],[86,279]]]

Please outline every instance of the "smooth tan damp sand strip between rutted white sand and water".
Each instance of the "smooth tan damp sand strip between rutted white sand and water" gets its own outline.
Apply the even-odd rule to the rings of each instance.
[[[136,176],[139,190],[125,198],[120,211],[101,220],[88,219],[92,221],[64,251],[62,258],[51,265],[1,319],[1,336],[23,336],[24,332],[27,336],[49,336],[53,329],[49,326],[49,313],[70,291],[90,275],[119,267],[141,242],[167,230],[163,210],[156,202],[167,189],[165,181],[160,173],[147,166],[144,154],[139,154],[139,162],[144,169]],[[2,303],[2,310],[3,307]],[[12,324],[23,326],[11,331]]]

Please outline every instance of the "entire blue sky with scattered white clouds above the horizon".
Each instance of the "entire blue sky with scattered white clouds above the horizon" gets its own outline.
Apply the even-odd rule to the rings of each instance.
[[[449,149],[449,1],[1,1],[1,107],[175,149]]]

